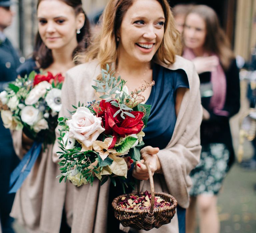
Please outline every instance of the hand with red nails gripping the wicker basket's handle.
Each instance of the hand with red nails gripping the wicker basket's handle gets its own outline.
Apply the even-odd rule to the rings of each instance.
[[[144,148],[142,148],[140,150],[142,159],[140,161],[136,161],[132,172],[133,177],[139,180],[149,179],[148,169],[146,165],[143,164],[144,162],[148,163],[149,167],[151,168],[152,175],[154,175],[155,172],[160,172],[161,164],[157,156],[158,152],[158,147],[145,146]]]

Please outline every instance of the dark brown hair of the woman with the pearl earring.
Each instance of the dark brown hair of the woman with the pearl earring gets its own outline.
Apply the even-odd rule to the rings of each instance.
[[[38,9],[40,2],[42,2],[42,1],[43,0],[38,0],[37,9]],[[71,6],[75,11],[75,15],[78,15],[79,13],[83,13],[85,15],[84,25],[80,29],[80,33],[76,34],[76,39],[77,39],[78,45],[74,49],[73,54],[72,54],[72,57],[74,58],[78,52],[84,51],[89,45],[89,40],[90,40],[89,20],[82,8],[81,0],[58,0],[58,1],[64,2],[68,6]],[[46,47],[46,45],[42,41],[42,38],[41,38],[39,32],[37,32],[36,39],[35,39],[35,48],[34,48],[34,52],[33,52],[33,59],[36,60],[39,63],[40,68],[43,68],[43,69],[49,67],[53,63],[52,51]]]

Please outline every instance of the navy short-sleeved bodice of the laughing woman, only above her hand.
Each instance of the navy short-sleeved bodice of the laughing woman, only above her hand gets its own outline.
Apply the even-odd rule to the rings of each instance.
[[[184,70],[169,70],[158,64],[153,65],[153,80],[149,99],[151,105],[147,127],[143,129],[145,146],[164,149],[172,138],[176,123],[175,102],[177,88],[189,88]]]

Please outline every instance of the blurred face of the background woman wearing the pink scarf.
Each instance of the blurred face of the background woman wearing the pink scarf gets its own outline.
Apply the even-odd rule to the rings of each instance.
[[[183,31],[185,46],[197,50],[203,49],[206,37],[206,24],[198,14],[190,13],[186,17]]]

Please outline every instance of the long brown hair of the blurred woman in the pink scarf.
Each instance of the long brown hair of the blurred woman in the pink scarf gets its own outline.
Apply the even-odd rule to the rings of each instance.
[[[231,60],[235,56],[230,48],[230,43],[225,32],[220,27],[216,12],[209,6],[195,5],[187,15],[192,13],[199,15],[205,22],[205,51],[215,53],[219,57],[223,68],[227,70]]]

